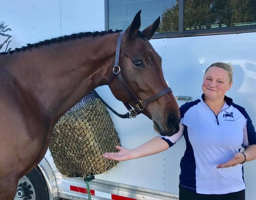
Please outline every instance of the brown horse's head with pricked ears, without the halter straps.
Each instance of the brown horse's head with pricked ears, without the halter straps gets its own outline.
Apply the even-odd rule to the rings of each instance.
[[[162,72],[162,59],[148,41],[160,24],[160,17],[140,32],[140,12],[122,37],[119,66],[132,93],[146,100],[168,85]],[[113,78],[109,86],[118,100],[136,108],[134,98],[118,78]],[[153,120],[154,129],[162,136],[172,136],[179,131],[180,112],[171,90],[146,105],[141,112]]]

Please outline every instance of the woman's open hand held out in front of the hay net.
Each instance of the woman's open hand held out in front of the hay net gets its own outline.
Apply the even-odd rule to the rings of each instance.
[[[111,159],[111,160],[117,160],[117,161],[124,161],[124,160],[130,160],[131,154],[130,150],[128,148],[122,147],[122,146],[116,146],[116,149],[119,150],[119,152],[106,152],[103,156],[105,158]]]

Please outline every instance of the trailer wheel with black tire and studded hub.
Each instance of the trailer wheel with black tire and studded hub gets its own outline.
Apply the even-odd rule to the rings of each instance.
[[[20,178],[14,200],[49,200],[48,188],[38,167]]]

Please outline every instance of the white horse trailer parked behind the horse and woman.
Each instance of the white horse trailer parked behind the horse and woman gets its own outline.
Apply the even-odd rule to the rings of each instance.
[[[156,6],[160,4],[158,2],[163,1],[2,0],[0,24],[4,22],[4,26],[8,27],[3,26],[4,28],[0,29],[1,52],[72,33],[107,30],[111,28],[111,23],[120,24],[127,13],[133,17],[143,2],[147,2],[147,8],[154,11],[159,9]],[[169,2],[179,2],[180,12],[185,5],[183,0]],[[120,6],[126,6],[126,10],[118,9]],[[112,22],[109,20],[112,16],[111,8],[116,8],[114,14],[117,15],[112,18]],[[142,8],[142,22],[149,19],[147,12],[150,10],[144,12]],[[154,20],[158,16],[160,14],[156,13]],[[128,24],[132,17],[127,20]],[[183,22],[179,23],[182,25]],[[147,21],[145,26],[148,24],[150,23]],[[231,30],[220,28],[208,32],[193,32],[193,28],[190,28],[189,33],[178,28],[173,35],[155,34],[150,42],[162,57],[166,82],[172,88],[179,106],[201,96],[202,77],[210,64],[230,62],[234,66],[234,84],[228,91],[228,96],[245,107],[252,121],[256,122],[256,26],[252,22],[249,25],[252,26]],[[96,91],[117,112],[126,112],[122,102],[114,98],[108,86],[99,87]],[[118,118],[112,112],[110,115],[122,146],[131,149],[157,135],[152,121],[144,115],[132,119]],[[119,162],[118,166],[108,173],[95,175],[95,180],[90,183],[92,199],[178,199],[179,163],[185,146],[185,140],[182,138],[166,152]],[[256,161],[244,164],[246,200],[256,199],[255,167]],[[29,189],[32,192],[28,196],[19,190],[15,200],[88,198],[84,180],[64,177],[56,169],[49,151],[37,168],[20,179],[19,184],[24,182],[31,186]],[[21,185],[18,188],[21,188]]]

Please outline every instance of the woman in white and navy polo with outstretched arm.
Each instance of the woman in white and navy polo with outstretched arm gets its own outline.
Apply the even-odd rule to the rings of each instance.
[[[180,107],[178,133],[155,137],[132,150],[116,146],[120,151],[105,153],[105,158],[123,161],[149,156],[184,136],[180,200],[245,200],[242,164],[256,159],[256,132],[245,109],[225,96],[232,76],[230,64],[212,64],[204,74],[202,97]]]

